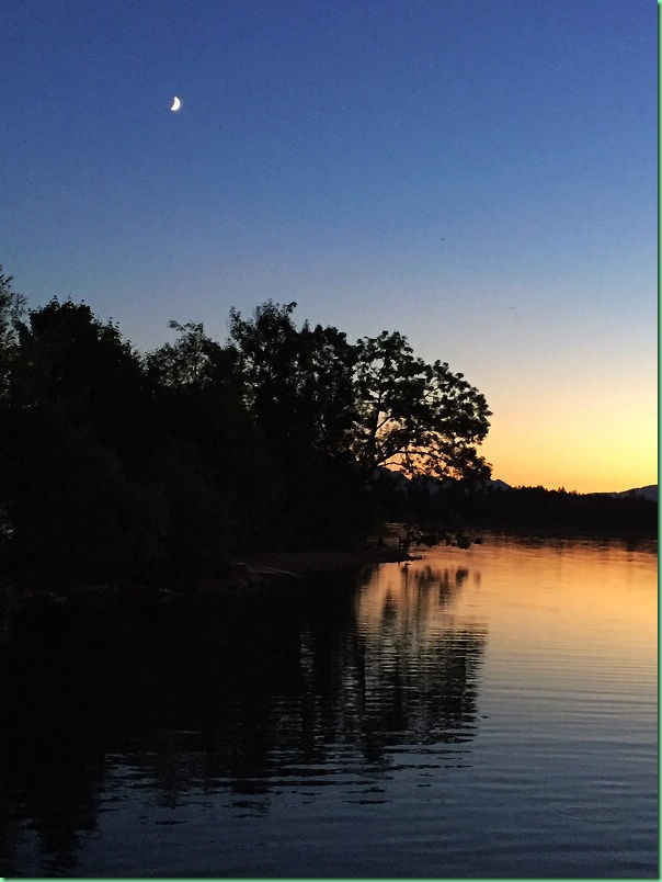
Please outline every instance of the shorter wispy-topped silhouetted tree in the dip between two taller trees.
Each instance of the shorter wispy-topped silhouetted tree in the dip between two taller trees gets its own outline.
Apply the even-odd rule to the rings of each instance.
[[[170,328],[174,342],[145,358],[160,427],[153,470],[170,500],[178,567],[209,574],[224,555],[265,540],[277,467],[244,406],[236,350],[212,340],[202,324]]]

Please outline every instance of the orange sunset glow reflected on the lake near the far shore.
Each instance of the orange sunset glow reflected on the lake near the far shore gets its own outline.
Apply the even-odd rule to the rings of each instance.
[[[489,678],[518,689],[605,690],[623,678],[650,692],[657,671],[657,556],[652,546],[488,538],[469,550],[422,551],[381,566],[358,621],[368,641],[408,652],[449,636],[484,644]]]

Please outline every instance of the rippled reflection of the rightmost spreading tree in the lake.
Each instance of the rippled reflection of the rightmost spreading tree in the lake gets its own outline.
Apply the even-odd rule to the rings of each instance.
[[[358,603],[364,730],[373,748],[468,740],[487,626],[448,614],[469,570],[384,568]]]

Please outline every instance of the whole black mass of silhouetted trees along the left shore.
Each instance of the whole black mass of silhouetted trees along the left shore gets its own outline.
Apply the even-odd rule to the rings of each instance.
[[[397,331],[350,343],[296,304],[171,323],[141,354],[84,303],[27,312],[0,272],[2,568],[39,578],[221,575],[252,550],[356,547],[375,471],[478,486],[490,412]]]

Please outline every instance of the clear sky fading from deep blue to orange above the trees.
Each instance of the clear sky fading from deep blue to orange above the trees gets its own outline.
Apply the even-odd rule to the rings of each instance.
[[[484,393],[494,477],[654,483],[657,16],[3,0],[0,263],[141,351],[267,298],[400,330]]]

